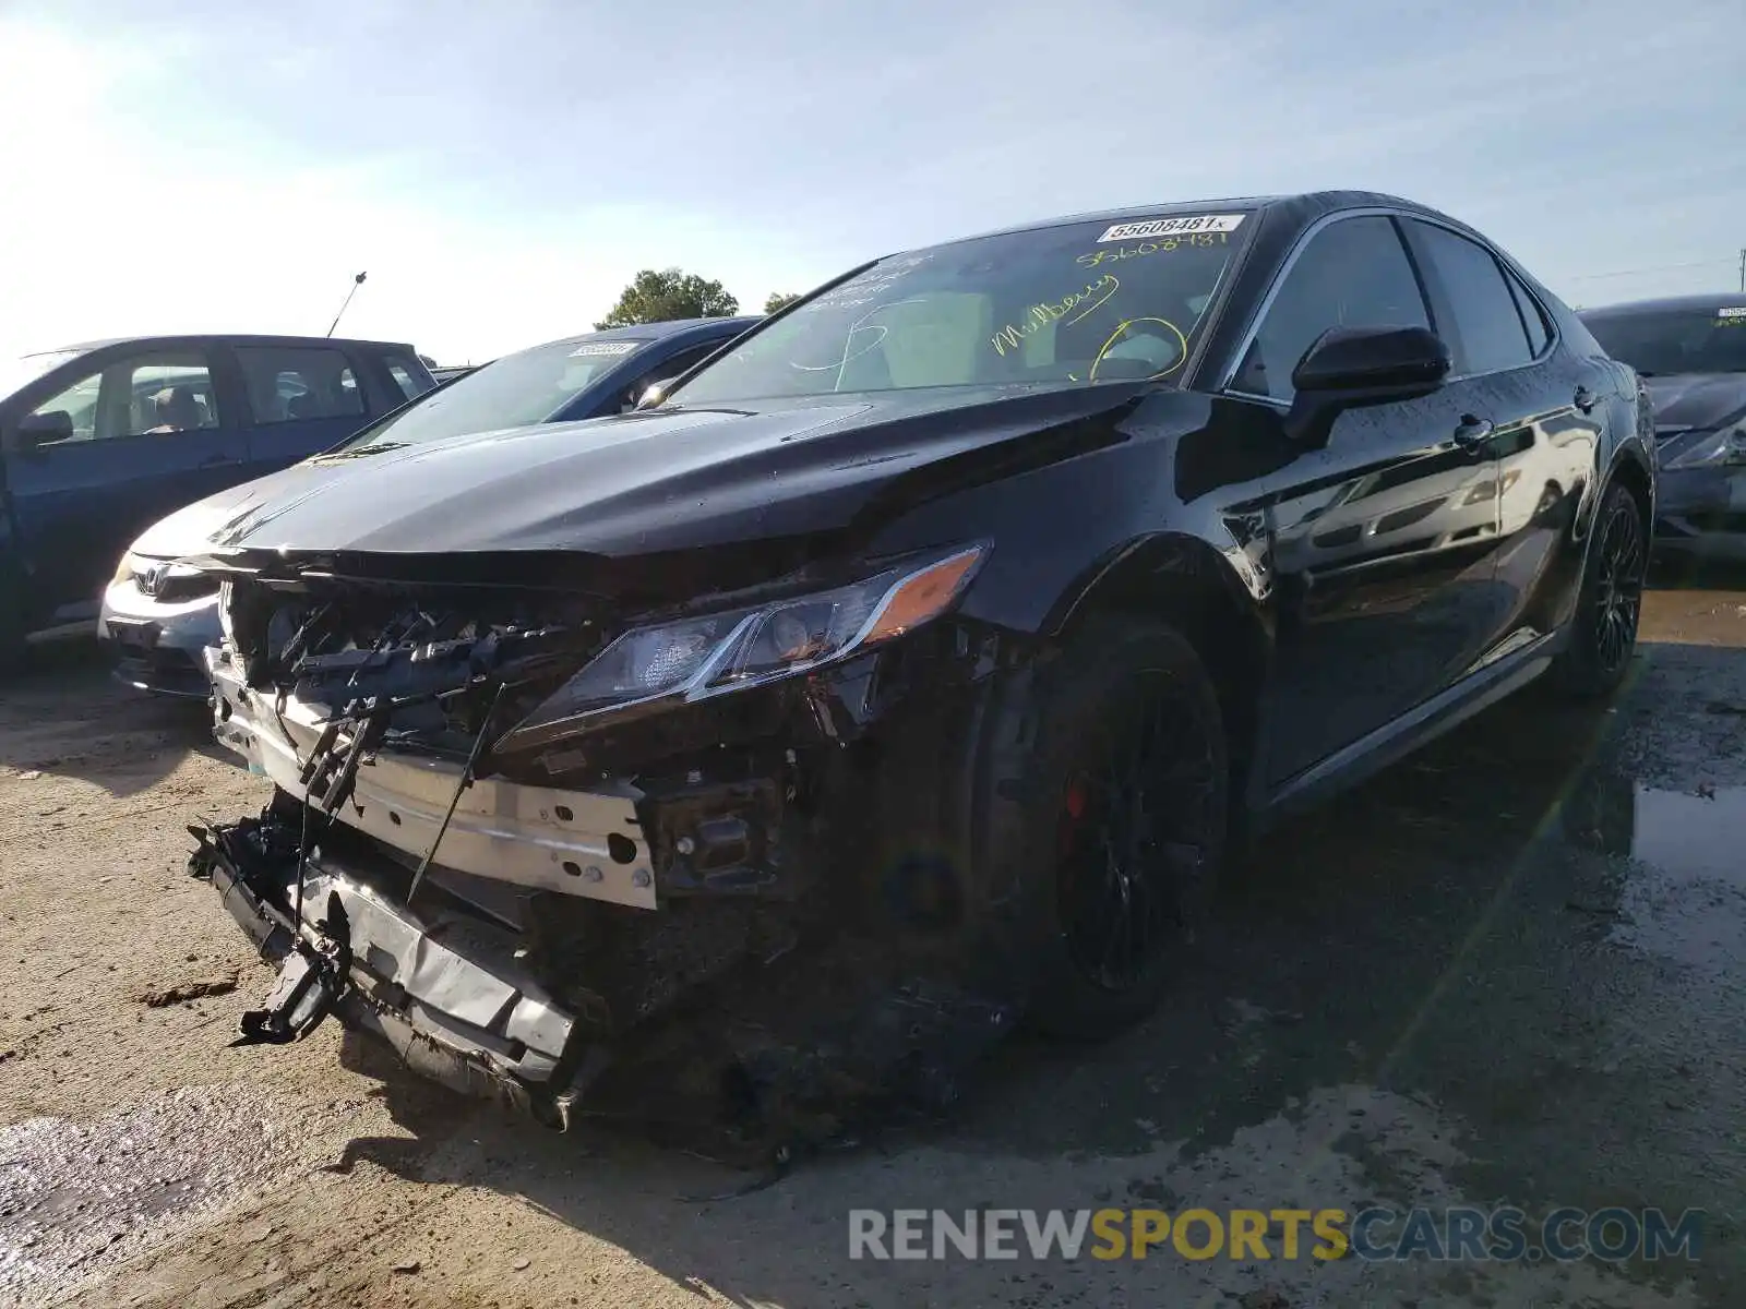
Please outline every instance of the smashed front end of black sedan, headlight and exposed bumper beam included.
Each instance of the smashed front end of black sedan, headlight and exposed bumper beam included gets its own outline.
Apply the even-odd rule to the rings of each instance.
[[[190,867],[279,967],[241,1040],[332,1012],[555,1126],[684,1030],[740,1110],[950,1098],[929,1045],[967,1059],[1016,1009],[938,822],[1027,658],[953,611],[986,552],[636,613],[513,557],[227,560],[215,731],[274,798]]]

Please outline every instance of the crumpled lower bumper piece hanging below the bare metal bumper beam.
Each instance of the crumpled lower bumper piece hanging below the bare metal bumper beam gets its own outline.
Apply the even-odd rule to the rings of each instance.
[[[503,1100],[566,1126],[581,1086],[604,1066],[604,1049],[520,965],[519,937],[431,897],[396,904],[368,871],[313,853],[293,934],[295,860],[260,857],[257,820],[190,829],[189,869],[210,878],[260,956],[283,967],[297,941],[313,941],[340,906],[347,967],[335,1014],[388,1042],[414,1072],[461,1094]],[[524,953],[524,951],[522,951]]]

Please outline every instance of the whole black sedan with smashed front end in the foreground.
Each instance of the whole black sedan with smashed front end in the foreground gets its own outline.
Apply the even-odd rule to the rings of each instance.
[[[765,1047],[842,1019],[803,958],[1105,1033],[1233,831],[1542,674],[1619,686],[1653,508],[1633,370],[1418,204],[892,255],[587,440],[389,452],[230,532],[218,733],[278,796],[194,866],[285,960],[257,1038],[337,1009],[559,1117],[777,956]]]

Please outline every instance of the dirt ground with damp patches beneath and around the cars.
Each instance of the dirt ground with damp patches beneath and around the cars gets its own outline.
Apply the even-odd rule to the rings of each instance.
[[[262,799],[87,654],[0,691],[0,1304],[1746,1304],[1746,592],[1650,595],[1627,691],[1528,693],[1233,871],[1103,1047],[756,1194],[424,1087],[269,983],[185,824]],[[711,1196],[718,1196],[711,1199]],[[1606,1204],[1695,1262],[852,1262],[850,1208]]]

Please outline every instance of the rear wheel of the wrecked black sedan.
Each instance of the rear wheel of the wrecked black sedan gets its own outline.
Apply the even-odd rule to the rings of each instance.
[[[1594,700],[1619,689],[1636,649],[1646,572],[1643,510],[1629,487],[1615,482],[1594,520],[1570,646],[1552,663],[1552,682],[1563,695]]]

